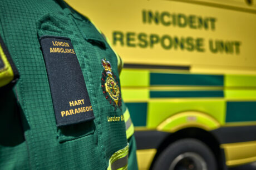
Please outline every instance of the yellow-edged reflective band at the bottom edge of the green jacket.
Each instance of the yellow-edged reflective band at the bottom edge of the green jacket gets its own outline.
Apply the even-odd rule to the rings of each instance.
[[[112,156],[109,159],[109,167],[107,167],[107,170],[127,169],[128,152],[129,143],[127,143],[127,146],[122,150],[119,150],[112,154]]]

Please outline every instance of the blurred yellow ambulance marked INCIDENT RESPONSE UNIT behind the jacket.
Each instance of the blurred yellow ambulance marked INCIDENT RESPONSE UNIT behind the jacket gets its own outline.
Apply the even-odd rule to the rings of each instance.
[[[124,61],[139,169],[256,161],[256,2],[66,1]]]

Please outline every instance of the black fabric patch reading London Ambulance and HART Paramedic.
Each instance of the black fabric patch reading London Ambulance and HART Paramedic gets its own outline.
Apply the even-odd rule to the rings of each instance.
[[[95,119],[71,40],[65,37],[43,36],[40,43],[57,126]]]

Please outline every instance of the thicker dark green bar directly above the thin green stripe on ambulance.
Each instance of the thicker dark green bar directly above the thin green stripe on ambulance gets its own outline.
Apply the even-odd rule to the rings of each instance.
[[[150,85],[223,86],[223,75],[150,73]]]

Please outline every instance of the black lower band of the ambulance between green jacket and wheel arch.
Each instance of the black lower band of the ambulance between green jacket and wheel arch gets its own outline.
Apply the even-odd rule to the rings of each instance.
[[[169,135],[168,132],[160,131],[135,131],[137,150],[158,148],[160,143]]]

